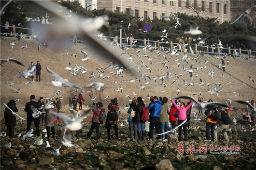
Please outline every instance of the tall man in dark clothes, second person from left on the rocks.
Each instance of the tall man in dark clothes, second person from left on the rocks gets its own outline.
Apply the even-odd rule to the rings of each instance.
[[[35,101],[35,95],[31,95],[30,96],[30,102],[26,103],[25,105],[25,112],[28,112],[27,113],[27,131],[26,133],[30,130],[30,127],[31,127],[31,124],[32,122],[34,122],[34,125],[35,125],[35,128],[36,128],[36,133],[37,133],[37,136],[40,136],[40,131],[39,131],[39,118],[34,118],[32,116],[32,114],[34,113],[32,110],[31,110],[31,105],[33,105],[35,108],[39,108],[38,107],[38,103]]]

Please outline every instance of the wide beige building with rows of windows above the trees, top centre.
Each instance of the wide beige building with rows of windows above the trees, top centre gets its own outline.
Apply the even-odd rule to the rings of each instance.
[[[171,13],[186,13],[200,17],[217,17],[217,23],[230,21],[230,0],[98,0],[98,9],[123,12],[136,19],[170,16]],[[169,18],[163,18],[169,19]]]

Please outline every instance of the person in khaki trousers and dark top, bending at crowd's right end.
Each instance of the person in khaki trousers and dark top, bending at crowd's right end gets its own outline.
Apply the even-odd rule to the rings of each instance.
[[[214,130],[214,141],[218,142],[218,132],[221,131],[223,133],[225,140],[229,142],[228,134],[227,134],[229,125],[226,125],[223,123],[221,119],[221,112],[224,112],[224,111],[222,111],[219,107],[217,107],[216,112],[213,115],[213,118],[216,119],[217,123],[219,124],[219,126]]]

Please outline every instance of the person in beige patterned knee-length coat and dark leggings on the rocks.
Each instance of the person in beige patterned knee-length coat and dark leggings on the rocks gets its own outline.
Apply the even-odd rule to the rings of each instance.
[[[55,101],[53,101],[53,104],[56,105]],[[45,114],[45,117],[43,119],[43,126],[45,126],[46,128],[46,133],[47,133],[47,138],[48,141],[51,139],[51,132],[50,132],[50,128],[52,131],[52,138],[55,138],[55,126],[56,126],[56,116],[54,113],[57,112],[57,107],[53,107],[50,109],[45,109],[45,112],[47,114]]]

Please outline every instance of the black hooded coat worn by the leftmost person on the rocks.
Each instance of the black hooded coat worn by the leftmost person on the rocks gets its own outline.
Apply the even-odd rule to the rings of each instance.
[[[14,100],[10,100],[7,106],[12,109],[14,112],[18,112],[19,110],[16,107],[16,103]],[[12,111],[5,107],[4,110],[4,124],[5,126],[16,126],[16,116],[12,113]]]

